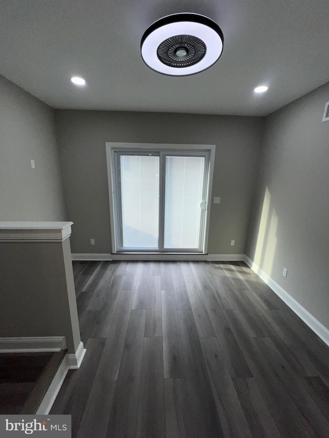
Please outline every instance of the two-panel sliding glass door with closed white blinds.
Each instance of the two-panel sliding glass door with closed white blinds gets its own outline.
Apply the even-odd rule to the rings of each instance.
[[[207,151],[113,151],[117,251],[202,252]]]

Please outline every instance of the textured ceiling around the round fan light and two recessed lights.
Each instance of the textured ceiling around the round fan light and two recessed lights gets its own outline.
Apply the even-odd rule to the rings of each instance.
[[[145,29],[177,12],[224,33],[221,59],[190,77],[140,56]],[[0,73],[54,108],[265,116],[329,81],[328,18],[328,0],[1,0]]]

